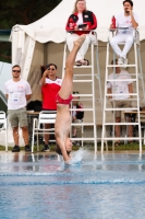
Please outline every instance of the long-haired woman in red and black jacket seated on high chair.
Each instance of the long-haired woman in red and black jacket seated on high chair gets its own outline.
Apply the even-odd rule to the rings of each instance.
[[[73,48],[73,42],[76,41],[82,34],[86,34],[86,39],[83,43],[75,58],[76,66],[89,65],[88,60],[84,59],[84,56],[88,49],[90,41],[95,37],[95,35],[89,34],[90,30],[95,30],[96,27],[96,16],[92,11],[86,10],[86,1],[76,0],[74,4],[73,14],[70,15],[65,26],[65,30],[70,33],[67,37],[67,44],[70,51]]]

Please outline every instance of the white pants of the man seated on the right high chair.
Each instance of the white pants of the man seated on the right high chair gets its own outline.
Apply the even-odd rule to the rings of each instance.
[[[130,50],[133,44],[133,41],[134,38],[133,35],[131,34],[118,34],[117,36],[111,38],[110,45],[119,57],[125,58],[128,51]],[[121,50],[120,47],[118,46],[119,43],[125,43],[123,50]]]

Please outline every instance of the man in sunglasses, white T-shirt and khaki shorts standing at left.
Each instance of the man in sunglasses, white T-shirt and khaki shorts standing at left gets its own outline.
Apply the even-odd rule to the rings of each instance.
[[[19,146],[19,125],[22,128],[25,142],[25,151],[31,151],[28,145],[28,129],[26,115],[26,101],[31,97],[32,90],[27,81],[20,78],[21,67],[12,67],[12,79],[5,82],[4,91],[8,99],[8,116],[13,129],[13,139],[15,146],[12,152],[20,152]]]

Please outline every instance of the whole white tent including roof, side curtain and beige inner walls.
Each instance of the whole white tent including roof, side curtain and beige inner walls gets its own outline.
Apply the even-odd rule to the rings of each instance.
[[[145,39],[145,0],[133,0],[133,11],[140,18],[140,39]],[[99,62],[101,72],[101,87],[104,91],[106,42],[112,15],[123,12],[123,0],[86,0],[87,9],[97,18],[97,36],[99,41]],[[40,99],[40,66],[55,62],[58,66],[58,76],[61,77],[63,43],[65,41],[65,24],[72,13],[75,0],[62,0],[50,13],[28,25],[15,25],[12,28],[12,65],[19,64],[22,77],[32,85],[33,100]],[[145,56],[145,42],[142,42],[142,56]],[[87,53],[86,56],[90,54]],[[89,59],[89,57],[87,57]],[[129,59],[133,58],[133,49]],[[97,71],[97,69],[95,69]],[[145,71],[145,64],[143,64]],[[77,89],[77,88],[76,88]],[[96,92],[97,92],[96,87]],[[83,93],[83,88],[78,88]],[[86,91],[87,92],[87,91]],[[101,110],[99,110],[100,113]],[[99,114],[98,114],[99,115]],[[87,117],[87,116],[86,116]],[[88,116],[89,117],[89,116]],[[101,115],[99,124],[101,124]]]

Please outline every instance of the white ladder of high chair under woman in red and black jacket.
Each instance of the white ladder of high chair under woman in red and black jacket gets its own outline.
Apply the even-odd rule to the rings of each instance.
[[[97,65],[97,73],[95,73],[95,50],[96,50],[96,65]],[[64,77],[65,72],[65,60],[67,60],[67,54],[68,54],[68,45],[67,43],[64,44],[64,51],[63,51],[63,65],[62,65],[62,79]],[[97,127],[96,127],[96,102],[100,102],[101,108],[102,108],[102,95],[101,95],[101,85],[100,85],[100,73],[99,73],[99,61],[98,61],[98,43],[97,43],[97,34],[96,34],[96,43],[90,44],[90,61],[89,66],[74,66],[74,74],[73,74],[73,83],[74,87],[75,84],[80,84],[80,88],[83,85],[86,85],[90,88],[90,93],[78,93],[78,94],[73,94],[73,96],[80,96],[80,101],[84,104],[84,113],[89,112],[92,114],[92,122],[90,123],[72,123],[71,127],[73,126],[82,126],[82,130],[84,130],[85,126],[92,126],[93,127],[93,137],[84,137],[82,138],[72,138],[72,131],[70,134],[72,140],[76,141],[94,141],[94,149],[95,153],[97,152]],[[83,73],[80,73],[80,71],[83,70]],[[98,87],[99,87],[99,95],[100,99],[96,100],[95,97],[95,79],[98,80]],[[90,107],[85,107],[84,102],[92,102]],[[72,114],[72,111],[74,111],[72,107],[70,108],[70,112]],[[84,116],[85,119],[85,116]]]

